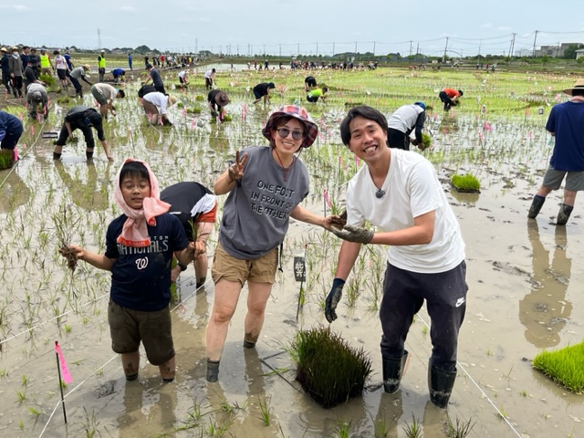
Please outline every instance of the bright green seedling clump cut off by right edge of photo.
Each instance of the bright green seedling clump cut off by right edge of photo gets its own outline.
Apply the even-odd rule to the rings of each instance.
[[[540,370],[569,391],[581,394],[584,392],[582,363],[584,342],[555,351],[542,351],[533,360],[533,368]]]

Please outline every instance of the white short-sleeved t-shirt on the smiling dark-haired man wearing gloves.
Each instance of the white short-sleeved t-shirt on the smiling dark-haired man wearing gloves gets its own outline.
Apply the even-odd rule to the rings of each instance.
[[[464,260],[460,226],[450,208],[431,162],[412,151],[391,150],[390,171],[377,198],[377,187],[363,166],[347,189],[347,224],[365,221],[381,231],[396,231],[413,225],[413,218],[435,211],[432,242],[427,245],[391,245],[387,260],[392,266],[412,272],[445,272]]]

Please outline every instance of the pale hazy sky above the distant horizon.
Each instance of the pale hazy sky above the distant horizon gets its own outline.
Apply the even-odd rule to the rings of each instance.
[[[231,55],[416,52],[450,57],[530,53],[584,43],[581,0],[12,0],[0,43]],[[571,11],[571,12],[570,12]],[[570,21],[569,16],[575,20]],[[514,35],[515,34],[515,35]],[[515,37],[515,42],[513,41]],[[101,47],[99,47],[101,46]],[[527,53],[526,53],[527,54]]]

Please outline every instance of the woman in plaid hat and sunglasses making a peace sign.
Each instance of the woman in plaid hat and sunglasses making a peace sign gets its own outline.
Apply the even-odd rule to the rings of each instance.
[[[227,329],[245,282],[243,346],[255,348],[290,217],[324,228],[332,220],[300,206],[309,187],[307,168],[297,155],[318,136],[318,126],[307,110],[288,105],[274,111],[262,134],[269,146],[236,151],[235,162],[214,183],[216,195],[228,196],[211,269],[215,297],[206,331],[207,381],[219,377]]]

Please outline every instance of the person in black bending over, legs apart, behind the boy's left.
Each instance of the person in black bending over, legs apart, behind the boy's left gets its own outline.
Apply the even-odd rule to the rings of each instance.
[[[101,141],[103,151],[106,152],[108,161],[113,162],[113,157],[110,155],[110,148],[108,141],[103,133],[103,120],[97,110],[86,107],[85,105],[78,105],[68,110],[65,115],[65,121],[59,132],[58,139],[55,141],[55,150],[53,151],[53,160],[61,159],[61,152],[67,139],[73,134],[74,130],[81,130],[85,138],[86,157],[88,160],[93,159],[93,149],[95,148],[95,141],[93,140],[93,132],[91,128],[98,131],[98,139]]]

